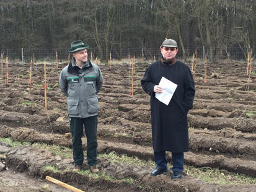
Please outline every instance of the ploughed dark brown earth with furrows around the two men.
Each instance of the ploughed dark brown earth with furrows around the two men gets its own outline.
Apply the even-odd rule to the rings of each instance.
[[[71,147],[66,98],[57,84],[65,65],[59,69],[47,65],[47,110],[42,88],[43,64],[32,68],[30,94],[28,64],[9,64],[9,84],[5,83],[5,77],[0,79],[0,137],[30,142],[30,146],[19,147],[0,142],[0,155],[5,154],[4,168],[0,172],[2,189],[38,190],[33,184],[24,187],[19,182],[12,186],[4,182],[6,178],[14,181],[12,174],[25,173],[24,177],[50,185],[45,181],[49,175],[84,191],[256,191],[256,185],[213,185],[186,173],[182,180],[170,180],[171,172],[152,178],[149,173],[154,167],[112,164],[104,158],[99,158],[100,172],[118,180],[133,178],[135,183],[113,182],[103,177],[94,179],[67,171],[66,168],[72,170],[73,167],[71,158],[33,147],[36,142]],[[99,65],[104,75],[99,93],[99,154],[115,151],[139,159],[153,159],[149,96],[140,85],[148,65],[135,64],[134,95],[130,95],[129,64],[113,64],[112,68],[107,64]],[[188,66],[191,68],[191,63]],[[210,63],[208,82],[204,82],[203,66],[196,66],[195,102],[188,113],[190,152],[185,153],[185,165],[220,168],[256,178],[256,76],[252,74],[249,91],[245,91],[248,80],[245,68],[246,62]],[[85,138],[83,143],[86,143]],[[61,173],[42,171],[48,164]],[[62,190],[53,187],[51,185],[52,191]]]

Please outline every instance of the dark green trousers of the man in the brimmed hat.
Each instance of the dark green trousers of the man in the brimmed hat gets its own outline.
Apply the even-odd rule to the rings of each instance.
[[[97,115],[88,118],[69,117],[75,165],[82,165],[84,162],[84,152],[82,151],[81,140],[83,128],[87,138],[87,163],[89,165],[97,164],[97,118]]]

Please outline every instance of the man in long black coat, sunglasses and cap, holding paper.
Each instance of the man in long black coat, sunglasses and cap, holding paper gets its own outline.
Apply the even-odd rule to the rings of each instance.
[[[172,152],[172,178],[181,178],[183,152],[188,151],[187,113],[193,107],[195,84],[188,66],[177,61],[177,42],[167,39],[160,47],[162,58],[152,63],[141,79],[143,90],[151,95],[152,143],[156,168],[151,176],[167,172],[166,151]],[[159,82],[165,77],[177,84],[168,105],[156,98],[162,93]]]

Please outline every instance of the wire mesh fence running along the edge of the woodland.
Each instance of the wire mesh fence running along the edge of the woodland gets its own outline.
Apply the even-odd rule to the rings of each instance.
[[[256,47],[255,47],[256,48]],[[252,57],[255,55],[255,48],[252,48]],[[205,50],[205,51],[204,51]],[[68,53],[68,48],[65,49],[55,49],[55,50],[47,50],[47,49],[2,49],[0,50],[1,54],[4,56],[8,56],[9,60],[12,61],[23,61],[24,63],[29,63],[30,59],[35,58],[35,61],[55,61],[56,53],[58,54],[58,61],[68,61],[68,58],[72,57],[70,53]],[[211,61],[218,61],[220,59],[236,59],[236,60],[244,60],[247,59],[247,53],[245,50],[242,50],[240,47],[231,47],[226,49],[213,48],[212,54],[210,56],[210,51],[208,48],[203,47],[190,47],[185,50],[185,57],[192,57],[193,53],[197,52],[198,58],[203,59],[203,55],[210,59]],[[108,52],[108,53],[107,53]],[[95,59],[125,59],[128,58],[129,55],[131,57],[135,56],[135,58],[144,58],[146,60],[154,60],[161,58],[161,53],[159,48],[132,48],[132,49],[118,49],[118,50],[102,50],[101,56],[100,51],[98,49],[89,48],[87,50],[88,57]],[[212,58],[211,58],[212,57]],[[184,59],[183,51],[179,48],[179,52],[177,53],[177,58]]]

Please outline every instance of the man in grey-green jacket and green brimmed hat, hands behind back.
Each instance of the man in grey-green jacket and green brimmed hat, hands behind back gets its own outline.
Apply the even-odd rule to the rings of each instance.
[[[99,110],[98,92],[103,77],[97,65],[90,63],[88,45],[82,41],[71,43],[73,53],[68,66],[60,73],[60,89],[68,100],[68,116],[72,134],[74,171],[82,169],[84,152],[81,137],[83,126],[87,137],[87,163],[92,173],[99,172],[97,164],[97,117]]]

